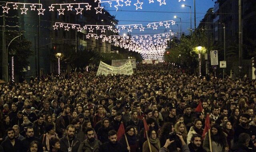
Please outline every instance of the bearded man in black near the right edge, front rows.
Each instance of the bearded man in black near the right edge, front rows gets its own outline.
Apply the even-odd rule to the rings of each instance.
[[[241,133],[246,133],[249,134],[250,137],[252,137],[252,135],[254,135],[253,129],[250,128],[249,125],[249,119],[250,119],[250,115],[249,114],[242,114],[242,122],[240,122],[240,124],[237,125],[237,127],[234,129],[234,143],[236,143],[239,139],[239,135]]]

